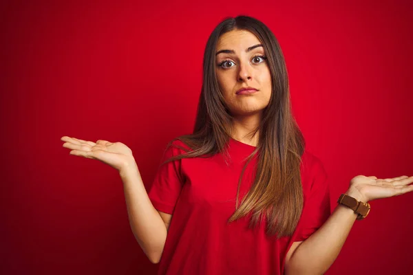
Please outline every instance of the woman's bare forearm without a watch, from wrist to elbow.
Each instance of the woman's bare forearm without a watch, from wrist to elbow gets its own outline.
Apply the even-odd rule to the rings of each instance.
[[[153,207],[138,168],[120,171],[129,224],[136,241],[151,262],[157,262],[167,239],[167,227]]]

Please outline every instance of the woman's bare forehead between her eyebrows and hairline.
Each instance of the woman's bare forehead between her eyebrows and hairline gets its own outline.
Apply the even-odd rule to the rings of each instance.
[[[220,36],[217,43],[219,50],[235,50],[235,52],[244,51],[247,47],[260,43],[260,40],[248,30],[231,30]]]

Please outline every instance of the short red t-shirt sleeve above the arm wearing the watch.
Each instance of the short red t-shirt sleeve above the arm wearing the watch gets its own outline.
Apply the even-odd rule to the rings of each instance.
[[[308,186],[304,188],[304,208],[297,225],[298,233],[294,241],[304,241],[317,231],[330,217],[330,188],[328,175],[317,158],[313,158],[311,169],[308,171]]]

